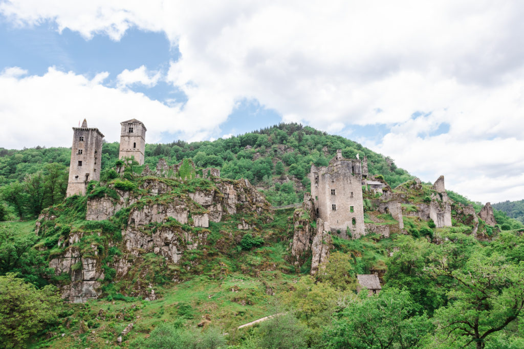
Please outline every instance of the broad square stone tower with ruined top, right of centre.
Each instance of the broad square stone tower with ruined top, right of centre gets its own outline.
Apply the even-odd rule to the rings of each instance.
[[[347,230],[354,238],[365,235],[362,180],[367,177],[367,161],[365,168],[362,165],[359,159],[344,159],[337,150],[329,166],[311,166],[311,197],[317,216],[344,238]]]

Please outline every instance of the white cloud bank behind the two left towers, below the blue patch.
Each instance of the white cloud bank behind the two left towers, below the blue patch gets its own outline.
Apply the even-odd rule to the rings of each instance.
[[[130,118],[147,125],[147,140],[151,143],[158,141],[164,130],[174,133],[190,129],[176,107],[152,101],[141,93],[103,86],[101,82],[107,75],[103,72],[89,80],[56,68],[49,68],[42,76],[0,74],[2,146],[70,147],[71,127],[84,117],[90,127],[101,130],[107,141],[118,140],[118,123]]]

